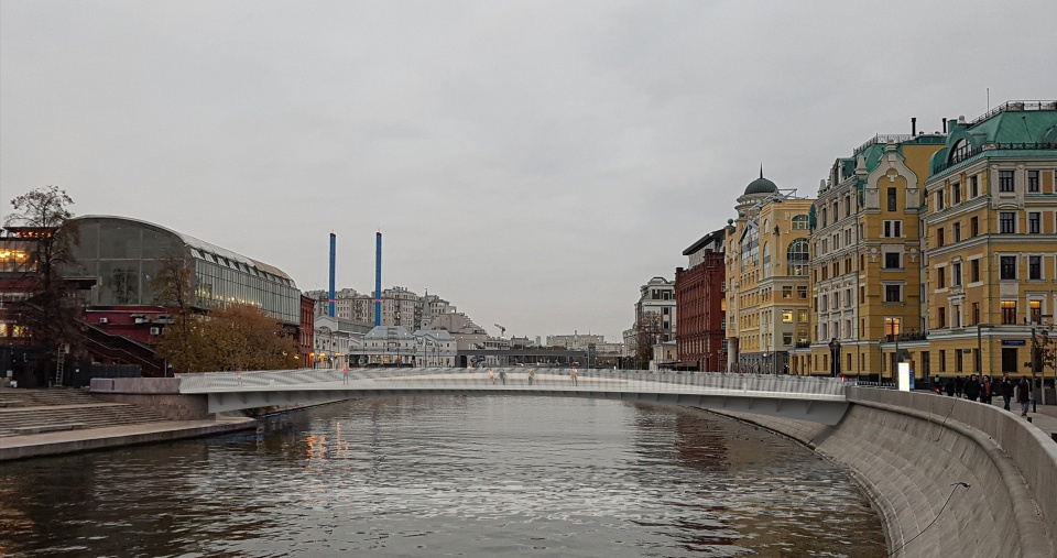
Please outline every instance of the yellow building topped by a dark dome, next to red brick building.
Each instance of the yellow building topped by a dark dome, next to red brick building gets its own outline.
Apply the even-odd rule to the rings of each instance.
[[[788,371],[788,351],[807,342],[808,210],[813,200],[763,177],[738,198],[727,229],[728,370]]]

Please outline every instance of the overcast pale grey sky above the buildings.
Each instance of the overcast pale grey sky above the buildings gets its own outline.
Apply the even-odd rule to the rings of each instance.
[[[0,198],[603,333],[764,174],[1057,98],[1057,2],[0,1]]]

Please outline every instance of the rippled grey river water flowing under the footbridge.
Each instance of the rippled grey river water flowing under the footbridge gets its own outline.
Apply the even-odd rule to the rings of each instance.
[[[394,397],[0,466],[0,556],[883,557],[837,466],[700,411]]]

